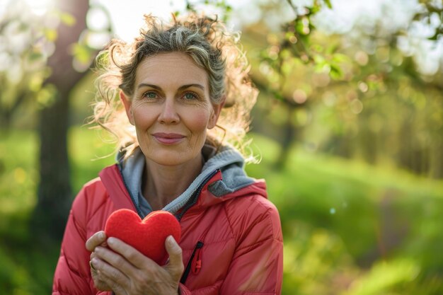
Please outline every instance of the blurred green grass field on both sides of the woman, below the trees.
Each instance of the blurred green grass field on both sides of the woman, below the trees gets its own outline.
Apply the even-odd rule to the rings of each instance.
[[[279,146],[252,135],[284,231],[283,294],[443,294],[443,182],[294,149],[273,168]],[[0,132],[1,294],[49,294],[59,245],[33,246],[38,137]],[[113,163],[112,146],[84,127],[69,133],[72,186]],[[260,151],[260,152],[258,152]]]

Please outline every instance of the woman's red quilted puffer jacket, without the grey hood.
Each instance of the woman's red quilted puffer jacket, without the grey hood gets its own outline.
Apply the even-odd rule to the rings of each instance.
[[[220,171],[212,176],[197,202],[180,218],[183,264],[190,267],[180,293],[280,294],[282,231],[277,209],[266,198],[265,183],[256,181],[216,197],[208,186],[221,178]],[[85,243],[105,228],[112,212],[121,208],[135,211],[120,170],[114,165],[87,183],[72,204],[53,295],[110,294],[94,287],[88,264],[91,253]]]

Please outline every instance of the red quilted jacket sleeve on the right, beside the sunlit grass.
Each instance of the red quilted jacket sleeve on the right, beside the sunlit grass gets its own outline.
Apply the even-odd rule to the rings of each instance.
[[[236,252],[220,294],[281,294],[283,241],[275,206],[267,199],[258,200],[230,222],[233,228],[236,224],[243,226],[237,226]]]

